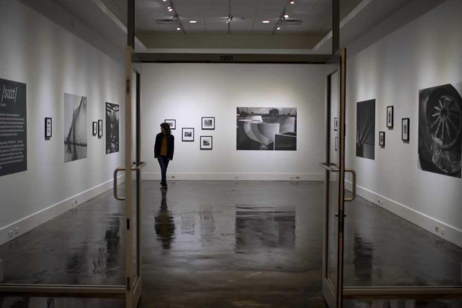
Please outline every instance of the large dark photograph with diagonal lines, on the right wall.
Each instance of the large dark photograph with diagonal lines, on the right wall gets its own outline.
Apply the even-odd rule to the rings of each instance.
[[[375,99],[356,103],[356,156],[375,159]]]

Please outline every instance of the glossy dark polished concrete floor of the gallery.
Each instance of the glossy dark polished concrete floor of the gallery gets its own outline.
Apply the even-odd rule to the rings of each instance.
[[[323,183],[142,183],[141,307],[325,307]],[[462,285],[462,248],[357,198],[346,286]],[[112,190],[0,246],[4,283],[124,284]],[[2,277],[0,277],[2,279]],[[452,298],[349,298],[347,307],[462,307]],[[0,296],[0,307],[123,307],[123,299]]]

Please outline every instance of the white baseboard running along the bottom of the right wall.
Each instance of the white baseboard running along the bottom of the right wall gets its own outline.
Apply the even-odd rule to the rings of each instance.
[[[345,181],[345,188],[351,190],[352,183],[349,181]],[[383,207],[384,209],[391,211],[392,213],[418,225],[421,228],[430,231],[433,234],[436,234],[437,236],[459,247],[462,247],[462,230],[445,224],[444,222],[433,219],[425,215],[424,213],[420,213],[419,211],[410,208],[409,206],[395,202],[387,197],[378,195],[375,192],[358,185],[356,185],[356,195],[366,200],[369,200],[372,203]],[[379,199],[383,201],[383,204],[378,204]],[[439,227],[438,233],[435,232],[435,226]],[[444,235],[441,234],[441,228],[444,229]]]

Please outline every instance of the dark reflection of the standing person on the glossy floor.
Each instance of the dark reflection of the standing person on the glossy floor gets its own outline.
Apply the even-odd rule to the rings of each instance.
[[[167,189],[161,189],[162,199],[157,216],[154,217],[154,229],[157,238],[162,241],[162,248],[170,249],[175,236],[175,221],[167,209]]]

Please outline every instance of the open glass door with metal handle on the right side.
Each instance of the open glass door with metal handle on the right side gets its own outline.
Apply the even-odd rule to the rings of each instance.
[[[354,199],[355,174],[344,167],[345,49],[329,60],[325,105],[324,245],[322,294],[329,307],[342,306],[344,201]],[[344,197],[344,174],[353,174],[353,197]]]

